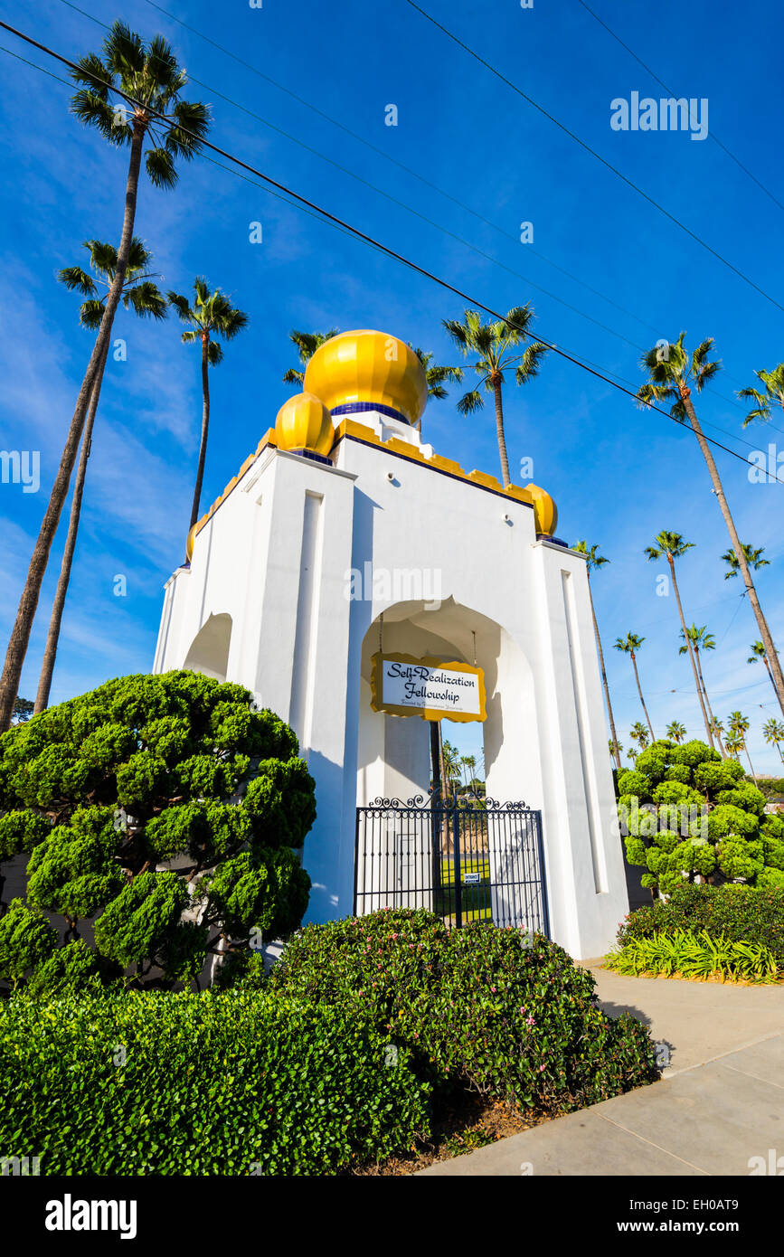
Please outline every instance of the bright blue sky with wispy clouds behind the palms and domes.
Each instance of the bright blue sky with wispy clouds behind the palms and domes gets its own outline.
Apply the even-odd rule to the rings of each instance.
[[[784,451],[784,415],[774,419],[775,429],[743,431],[735,397],[755,368],[784,358],[784,313],[405,0],[264,0],[260,9],[242,0],[165,4],[279,87],[150,0],[127,0],[122,9],[83,0],[80,8],[98,21],[122,16],[146,36],[162,31],[171,39],[200,80],[190,97],[212,106],[215,143],[490,307],[531,300],[543,337],[632,387],[642,378],[642,348],[681,329],[692,344],[714,336],[725,371],[699,402],[709,435],[744,458],[769,442]],[[778,299],[784,210],[712,138],[611,128],[612,99],[665,93],[578,0],[534,0],[525,10],[516,0],[481,8],[427,0],[423,8]],[[651,9],[592,0],[592,8],[676,94],[707,98],[710,131],[784,201],[773,160],[784,103],[780,5],[748,0],[739,10],[661,0]],[[72,58],[99,50],[103,38],[84,14],[63,0],[4,5],[5,20]],[[0,33],[0,44],[60,73],[11,35]],[[77,323],[77,298],[55,275],[84,261],[84,239],[117,241],[127,155],[69,116],[65,87],[0,58],[0,447],[41,451],[38,494],[0,485],[5,641],[90,349],[90,334]],[[388,104],[397,106],[396,127],[384,124]],[[263,224],[261,244],[249,240],[254,221]],[[523,221],[534,225],[530,245],[519,243]],[[441,362],[456,361],[441,319],[462,313],[459,299],[204,160],[181,170],[175,192],[142,182],[137,233],[166,288],[185,292],[205,274],[250,316],[211,378],[205,509],[291,392],[280,381],[294,358],[290,328],[377,327],[435,351]],[[187,530],[200,424],[197,351],[180,344],[173,319],[147,327],[121,314],[114,337],[127,341],[127,361],[111,363],[104,382],[52,701],[151,666],[162,586]],[[452,390],[447,401],[428,406],[426,437],[464,466],[498,474],[491,411],[461,419],[457,395]],[[641,716],[629,661],[612,649],[628,630],[646,637],[640,670],[657,733],[680,719],[700,734],[689,661],[677,656],[673,598],[657,596],[662,564],[642,554],[667,528],[695,542],[678,572],[689,621],[707,623],[719,645],[705,660],[714,708],[722,716],[745,711],[755,768],[780,769],[761,737],[763,722],[780,713],[761,665],[746,665],[759,634],[739,579],[722,577],[719,556],[729,538],[694,437],[554,356],[526,388],[508,386],[505,409],[513,469],[533,458],[535,483],[558,503],[558,534],[597,542],[612,561],[594,577],[594,597],[622,743],[628,745],[629,725]],[[758,590],[773,635],[783,640],[784,486],[751,484],[744,463],[715,453],[741,539],[765,547],[770,559]],[[24,671],[21,693],[30,698],[62,543]],[[127,577],[126,597],[113,593],[117,574]],[[452,740],[469,749],[477,737],[467,727]]]

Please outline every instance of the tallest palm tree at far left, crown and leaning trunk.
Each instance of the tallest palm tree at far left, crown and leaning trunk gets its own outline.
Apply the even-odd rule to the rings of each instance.
[[[190,161],[195,157],[209,129],[206,106],[180,99],[187,75],[177,65],[170,44],[161,35],[144,44],[124,23],[116,21],[104,40],[103,59],[95,53],[83,57],[72,75],[80,84],[72,99],[73,113],[85,126],[97,127],[108,143],[117,147],[128,145],[131,148],[124,215],[114,278],[106,295],[101,327],[79,388],[8,645],[0,679],[0,733],[10,724],[52,543],[68,495],[93,385],[111,339],[114,312],[126,279],[144,146],[144,165],[151,182],[156,187],[171,189],[177,182],[175,162],[177,158]],[[111,92],[117,88],[124,94],[119,99],[124,98],[126,106],[112,103]],[[158,114],[163,114],[165,121]]]

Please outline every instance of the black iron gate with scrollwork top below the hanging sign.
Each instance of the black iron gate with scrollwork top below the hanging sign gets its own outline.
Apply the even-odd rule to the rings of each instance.
[[[549,938],[542,813],[524,803],[377,798],[357,808],[354,913],[426,908]]]

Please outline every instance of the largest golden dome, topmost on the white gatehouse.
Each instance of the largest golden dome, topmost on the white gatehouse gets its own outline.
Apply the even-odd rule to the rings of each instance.
[[[305,388],[333,414],[381,410],[408,424],[427,401],[427,376],[416,353],[383,332],[342,332],[324,341],[305,368]]]

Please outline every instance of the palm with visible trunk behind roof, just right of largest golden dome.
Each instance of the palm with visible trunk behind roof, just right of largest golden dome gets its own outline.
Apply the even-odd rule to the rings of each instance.
[[[547,346],[540,341],[531,341],[528,331],[534,321],[534,312],[528,305],[515,305],[509,310],[505,319],[482,323],[479,310],[466,310],[464,322],[459,319],[444,319],[444,327],[452,341],[465,356],[474,356],[471,370],[480,377],[479,386],[471,388],[457,402],[460,415],[472,415],[475,410],[481,410],[485,400],[479,391],[493,391],[495,398],[495,431],[498,436],[499,455],[501,459],[501,478],[504,488],[511,484],[509,475],[509,459],[506,456],[506,437],[504,435],[504,407],[501,401],[501,387],[504,385],[504,372],[515,371],[515,383],[525,385],[538,375],[542,360],[547,353]],[[523,349],[525,341],[530,343]]]

